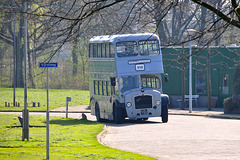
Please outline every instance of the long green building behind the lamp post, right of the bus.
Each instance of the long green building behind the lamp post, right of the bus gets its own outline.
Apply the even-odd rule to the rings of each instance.
[[[170,107],[179,107],[183,81],[185,95],[189,94],[189,47],[162,48],[162,53],[164,72],[169,77],[168,82],[163,81],[163,92],[170,96]],[[238,63],[238,46],[192,48],[192,94],[199,95],[199,107],[207,107],[207,69],[211,78],[212,107],[223,107],[224,99],[233,94],[234,65]]]

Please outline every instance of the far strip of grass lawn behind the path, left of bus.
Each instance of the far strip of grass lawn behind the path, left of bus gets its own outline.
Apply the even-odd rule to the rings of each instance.
[[[66,97],[71,97],[69,106],[89,104],[89,91],[50,89],[49,109],[66,106]],[[5,102],[11,103],[11,107],[5,107]],[[20,103],[20,107],[13,107],[13,88],[0,88],[0,110],[22,111],[24,108],[23,88],[16,88],[16,102]],[[41,107],[32,107],[32,102],[40,102]],[[46,111],[46,89],[28,89],[28,106],[29,111]]]

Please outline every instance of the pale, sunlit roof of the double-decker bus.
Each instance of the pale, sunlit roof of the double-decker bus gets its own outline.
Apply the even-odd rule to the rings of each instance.
[[[117,35],[103,35],[103,36],[95,36],[90,39],[90,43],[103,43],[103,42],[115,42],[119,38],[121,41],[135,41],[136,39],[138,40],[143,40],[143,39],[151,39],[153,37],[156,37],[157,39],[158,36],[153,33],[139,33],[139,34],[117,34]]]

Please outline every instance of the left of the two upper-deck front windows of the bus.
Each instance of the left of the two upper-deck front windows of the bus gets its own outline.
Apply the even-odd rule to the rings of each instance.
[[[118,57],[137,56],[137,42],[117,42]]]

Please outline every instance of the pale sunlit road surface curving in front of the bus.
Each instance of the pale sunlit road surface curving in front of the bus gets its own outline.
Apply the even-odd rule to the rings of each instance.
[[[170,160],[239,160],[240,121],[170,115],[146,122],[107,123],[99,136],[112,148]]]

